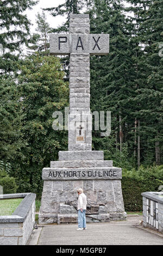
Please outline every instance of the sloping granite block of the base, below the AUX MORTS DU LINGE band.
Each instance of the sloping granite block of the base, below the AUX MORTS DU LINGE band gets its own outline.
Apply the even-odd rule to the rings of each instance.
[[[87,223],[126,220],[121,180],[45,180],[39,223],[78,222],[79,187],[87,197]],[[93,210],[89,210],[89,202],[97,206],[96,214],[91,214]]]

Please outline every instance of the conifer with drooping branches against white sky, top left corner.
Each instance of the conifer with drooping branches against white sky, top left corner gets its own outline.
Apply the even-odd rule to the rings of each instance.
[[[32,9],[34,0],[4,0],[0,2],[0,44],[3,55],[0,59],[1,74],[17,70],[18,53],[23,45],[29,42],[30,22],[24,14],[27,8]]]

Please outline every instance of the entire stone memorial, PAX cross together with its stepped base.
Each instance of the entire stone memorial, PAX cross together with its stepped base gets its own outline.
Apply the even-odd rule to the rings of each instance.
[[[89,15],[70,15],[70,34],[52,34],[50,52],[70,55],[68,150],[42,169],[43,191],[39,223],[78,222],[77,189],[87,197],[87,222],[125,220],[122,169],[92,150],[90,54],[109,53],[108,34],[89,34]]]

